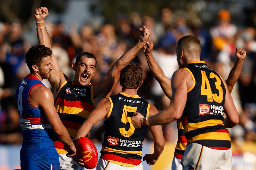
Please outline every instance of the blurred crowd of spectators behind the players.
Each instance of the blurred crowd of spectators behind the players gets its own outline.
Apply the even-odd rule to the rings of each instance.
[[[151,29],[149,41],[154,43],[153,55],[167,77],[178,69],[176,60],[176,42],[184,35],[195,35],[200,39],[201,59],[217,71],[224,80],[236,61],[236,47],[247,52],[241,75],[231,93],[240,123],[229,129],[232,141],[237,144],[244,141],[256,142],[256,18],[253,26],[241,27],[231,21],[230,12],[221,9],[216,14],[216,24],[210,28],[195,19],[188,21],[184,15],[173,12],[170,8],[159,11],[158,20],[150,15],[140,16],[133,12],[128,17],[119,17],[116,25],[103,23],[100,27],[90,24],[79,26],[73,22],[69,32],[61,21],[46,20],[46,27],[52,41],[52,50],[59,60],[61,70],[73,77],[71,64],[77,54],[90,52],[97,58],[97,71],[91,82],[103,78],[110,66],[131,46],[138,42],[138,28],[145,25]],[[215,21],[214,21],[215,22]],[[34,28],[35,29],[35,24]],[[27,28],[28,26],[26,26]],[[21,144],[22,134],[19,125],[18,110],[15,102],[15,90],[18,82],[29,74],[24,63],[24,54],[35,45],[24,34],[25,25],[19,20],[0,21],[0,144]],[[36,34],[34,35],[36,38]],[[134,62],[141,64],[144,70],[143,87],[138,95],[148,100],[160,111],[170,104],[159,83],[154,79],[146,62],[143,51],[140,51]],[[48,88],[48,80],[44,80]],[[121,92],[118,85],[113,94]],[[163,125],[165,140],[176,142],[176,122]],[[89,138],[94,142],[102,141],[104,133],[103,120],[94,125]],[[147,140],[152,140],[148,133]]]

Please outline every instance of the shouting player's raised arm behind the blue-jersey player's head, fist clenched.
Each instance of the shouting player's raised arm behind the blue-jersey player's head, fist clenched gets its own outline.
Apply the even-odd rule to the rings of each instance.
[[[52,49],[50,37],[46,30],[45,22],[44,22],[45,18],[48,15],[49,15],[49,12],[46,7],[40,7],[35,9],[34,11],[34,17],[37,24],[38,43]],[[57,58],[54,56],[54,54],[52,55],[52,57],[53,57],[54,70],[52,70],[51,72],[51,78],[49,79],[49,82],[52,86],[53,94],[55,95],[58,92],[60,85],[67,79],[67,77],[60,70],[59,62]]]

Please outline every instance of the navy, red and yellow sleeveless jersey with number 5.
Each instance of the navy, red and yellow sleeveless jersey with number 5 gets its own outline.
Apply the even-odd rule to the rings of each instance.
[[[132,124],[134,112],[148,116],[150,103],[138,95],[119,93],[109,97],[111,107],[105,117],[105,134],[102,144],[101,158],[124,165],[129,161],[142,158],[142,143],[148,127],[135,129]],[[122,159],[125,158],[125,159]],[[123,162],[123,163],[121,163]]]

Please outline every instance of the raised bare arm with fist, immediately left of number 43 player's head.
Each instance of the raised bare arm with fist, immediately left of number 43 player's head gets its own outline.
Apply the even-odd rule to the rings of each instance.
[[[154,59],[151,51],[153,50],[154,44],[152,42],[147,42],[147,44],[143,47],[143,52],[146,56],[148,67],[157,80],[159,82],[161,88],[163,89],[165,95],[168,98],[172,97],[172,88],[171,88],[171,80],[165,76],[163,70]]]

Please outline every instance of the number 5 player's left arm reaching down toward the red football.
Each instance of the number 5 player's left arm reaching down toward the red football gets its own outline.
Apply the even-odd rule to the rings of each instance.
[[[92,125],[102,120],[110,110],[110,101],[108,98],[103,98],[91,111],[88,118],[78,128],[74,141],[80,137],[86,136],[91,130]]]

